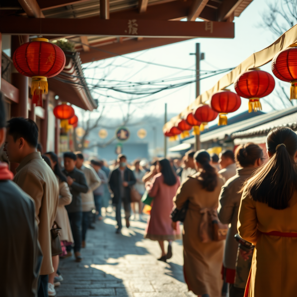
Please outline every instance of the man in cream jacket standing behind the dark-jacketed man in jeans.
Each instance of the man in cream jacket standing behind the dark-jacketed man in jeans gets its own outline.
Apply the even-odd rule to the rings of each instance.
[[[90,224],[90,216],[92,210],[95,209],[94,194],[93,190],[97,189],[101,180],[98,178],[96,171],[88,164],[84,163],[83,154],[80,152],[76,153],[76,168],[83,171],[86,177],[86,182],[89,187],[88,192],[81,193],[81,204],[83,209],[83,220],[82,220],[82,243],[81,247],[86,247],[86,233]]]

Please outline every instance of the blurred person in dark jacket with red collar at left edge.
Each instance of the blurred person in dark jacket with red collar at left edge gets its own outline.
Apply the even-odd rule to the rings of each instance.
[[[0,93],[0,147],[5,140],[5,125]],[[7,163],[0,162],[0,295],[36,297],[42,252],[35,205],[12,179]]]

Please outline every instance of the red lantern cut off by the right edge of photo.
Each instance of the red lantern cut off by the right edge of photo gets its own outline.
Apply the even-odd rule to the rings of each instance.
[[[290,82],[290,99],[297,99],[297,43],[277,53],[271,62],[273,74],[280,80]]]

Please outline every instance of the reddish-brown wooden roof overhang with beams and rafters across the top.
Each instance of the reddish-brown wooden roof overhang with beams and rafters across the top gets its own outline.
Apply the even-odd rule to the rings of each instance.
[[[0,0],[0,32],[44,35],[50,40],[66,37],[75,42],[86,63],[194,37],[233,38],[234,16],[251,2]],[[188,22],[180,22],[184,18]],[[204,22],[195,22],[196,18]]]

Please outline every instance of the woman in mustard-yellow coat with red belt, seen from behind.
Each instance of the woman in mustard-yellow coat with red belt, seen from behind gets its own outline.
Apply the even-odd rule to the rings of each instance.
[[[255,245],[244,296],[296,296],[297,135],[287,127],[266,139],[268,162],[244,185],[238,232]]]

